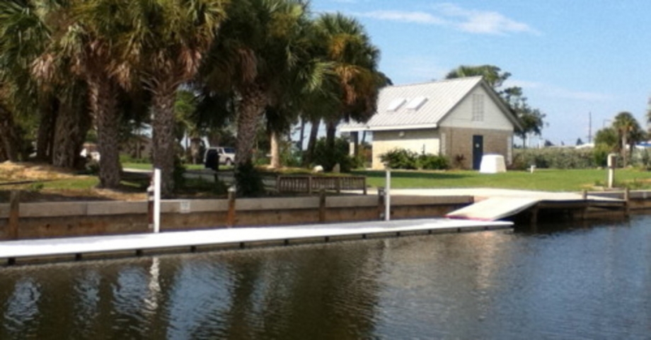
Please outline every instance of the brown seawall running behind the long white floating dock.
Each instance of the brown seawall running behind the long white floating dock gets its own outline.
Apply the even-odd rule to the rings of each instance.
[[[441,217],[473,203],[472,196],[393,196],[393,219]],[[240,198],[234,227],[379,220],[378,196]],[[0,204],[0,240],[8,233],[9,204]],[[227,227],[228,200],[163,200],[161,231]],[[147,232],[146,201],[21,203],[18,239]]]

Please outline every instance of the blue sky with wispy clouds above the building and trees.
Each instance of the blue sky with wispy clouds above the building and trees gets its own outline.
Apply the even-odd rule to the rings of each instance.
[[[512,74],[546,113],[543,139],[587,142],[618,112],[646,127],[651,1],[312,0],[316,13],[357,18],[394,84],[443,79],[461,64]]]

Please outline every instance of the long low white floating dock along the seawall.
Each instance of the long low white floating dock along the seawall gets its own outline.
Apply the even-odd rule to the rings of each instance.
[[[472,232],[510,227],[512,227],[512,222],[478,222],[438,218],[34,239],[0,242],[0,259],[6,259],[8,264],[23,259],[70,261],[116,255],[156,254],[164,251],[197,251],[204,248],[229,249],[229,247],[235,249],[260,244],[289,245],[330,242],[340,239],[400,237],[405,234]]]

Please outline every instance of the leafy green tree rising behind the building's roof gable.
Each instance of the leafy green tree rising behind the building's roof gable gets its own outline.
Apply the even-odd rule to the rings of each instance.
[[[500,97],[507,103],[513,110],[517,118],[522,123],[522,130],[516,132],[516,135],[522,138],[522,145],[526,145],[526,136],[530,134],[541,135],[543,127],[545,126],[546,114],[537,108],[531,108],[527,103],[527,98],[522,93],[522,88],[519,86],[511,86],[502,89],[502,84],[506,81],[511,74],[509,72],[502,72],[499,67],[492,65],[480,66],[460,66],[446,76],[446,79],[454,79],[459,77],[473,77],[482,76]]]

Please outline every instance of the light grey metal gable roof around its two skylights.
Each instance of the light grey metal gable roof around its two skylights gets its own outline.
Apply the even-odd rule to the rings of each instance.
[[[340,128],[342,131],[434,128],[481,81],[482,77],[466,77],[423,84],[387,86],[380,90],[377,112],[367,123],[350,122]],[[387,110],[398,98],[404,98],[405,102],[395,111]],[[417,109],[410,109],[410,101],[417,98],[426,100]]]

